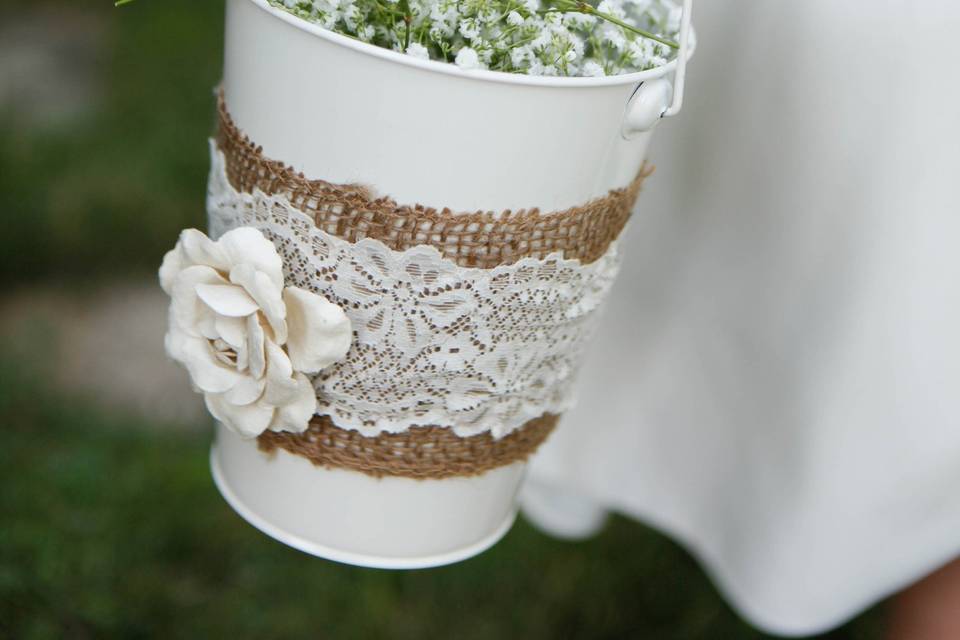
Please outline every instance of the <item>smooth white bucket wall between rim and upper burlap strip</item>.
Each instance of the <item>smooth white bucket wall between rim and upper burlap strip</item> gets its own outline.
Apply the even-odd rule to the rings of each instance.
[[[554,210],[625,186],[650,139],[620,136],[634,88],[437,73],[227,2],[224,91],[237,125],[311,178],[404,204]]]

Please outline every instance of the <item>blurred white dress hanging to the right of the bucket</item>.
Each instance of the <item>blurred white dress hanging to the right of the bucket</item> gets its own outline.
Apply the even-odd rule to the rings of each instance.
[[[534,521],[688,546],[769,631],[960,554],[960,4],[700,2]]]

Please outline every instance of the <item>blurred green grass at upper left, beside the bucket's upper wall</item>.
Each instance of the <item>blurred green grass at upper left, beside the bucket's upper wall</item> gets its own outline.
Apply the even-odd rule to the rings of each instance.
[[[0,114],[0,284],[152,271],[180,229],[204,222],[223,5],[62,0],[29,11],[63,13],[65,30],[78,12],[102,25],[99,95],[55,127]],[[22,3],[0,4],[0,21],[23,15]]]

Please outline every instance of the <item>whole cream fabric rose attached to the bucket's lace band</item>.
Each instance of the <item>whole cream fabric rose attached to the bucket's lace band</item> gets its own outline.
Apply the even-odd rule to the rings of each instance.
[[[186,229],[163,259],[160,285],[171,298],[167,354],[187,368],[217,420],[250,438],[307,428],[317,399],[305,374],[350,348],[340,307],[284,287],[280,256],[253,227],[216,242]]]

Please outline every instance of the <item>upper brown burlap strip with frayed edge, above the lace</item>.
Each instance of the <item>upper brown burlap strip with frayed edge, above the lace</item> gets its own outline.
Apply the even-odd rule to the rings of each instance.
[[[429,245],[461,267],[492,269],[523,258],[561,253],[584,264],[600,258],[630,218],[637,195],[653,167],[644,164],[627,187],[584,205],[541,213],[538,209],[454,213],[375,198],[360,185],[310,180],[263,155],[234,124],[223,92],[218,98],[217,146],[227,160],[227,178],[237,191],[284,195],[313,217],[321,230],[357,242],[374,238],[394,251]]]

